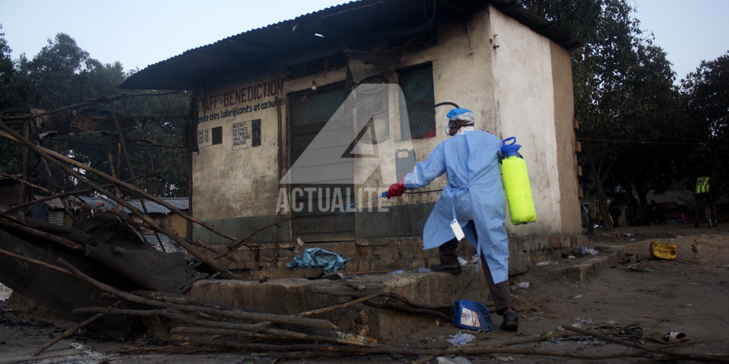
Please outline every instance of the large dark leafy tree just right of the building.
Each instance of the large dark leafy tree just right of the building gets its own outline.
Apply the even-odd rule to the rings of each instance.
[[[676,150],[657,143],[681,136],[680,94],[665,52],[640,29],[627,0],[522,0],[529,9],[578,36],[584,46],[571,53],[577,136],[603,217],[618,184],[641,199],[663,190],[675,175]],[[629,143],[629,142],[642,142]],[[631,196],[631,194],[629,194]],[[611,230],[610,224],[606,229]]]

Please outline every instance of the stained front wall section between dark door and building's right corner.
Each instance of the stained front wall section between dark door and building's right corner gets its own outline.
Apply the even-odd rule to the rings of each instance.
[[[430,62],[433,66],[433,81],[436,104],[454,102],[458,106],[472,110],[477,116],[476,127],[498,132],[493,101],[492,75],[490,72],[491,50],[489,37],[488,9],[484,8],[473,15],[467,23],[453,22],[438,28],[437,45],[420,52],[406,54],[399,66],[416,66]],[[354,73],[354,71],[353,71]],[[364,75],[363,75],[364,76]],[[354,79],[357,79],[354,76]],[[392,75],[392,82],[397,82],[397,75]],[[396,102],[392,103],[397,106]],[[447,126],[446,114],[452,106],[436,108],[436,136],[422,139],[404,140],[399,122],[400,110],[390,110],[390,136],[392,141],[385,146],[378,145],[378,152],[395,159],[398,149],[415,150],[416,161],[427,159],[430,151],[447,139],[444,126]],[[395,136],[395,137],[393,137]],[[368,170],[367,165],[377,163],[369,158],[356,159],[355,170]],[[395,163],[380,164],[380,168],[364,183],[364,187],[389,187],[397,182]],[[436,190],[446,187],[447,176],[436,178],[425,190]],[[440,197],[439,193],[405,195],[382,201],[382,206],[390,209],[387,214],[375,211],[357,214],[357,238],[387,238],[400,236],[418,236],[422,234],[427,216],[433,204]],[[366,196],[358,196],[359,200]],[[375,228],[378,227],[378,228]],[[392,227],[392,228],[388,228]]]

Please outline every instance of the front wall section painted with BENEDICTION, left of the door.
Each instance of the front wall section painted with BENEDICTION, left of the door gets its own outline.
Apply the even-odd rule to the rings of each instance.
[[[193,154],[192,178],[195,189],[192,206],[195,217],[214,219],[275,215],[278,197],[278,121],[276,106],[271,105],[275,95],[264,93],[262,85],[268,87],[272,82],[281,83],[281,78],[280,74],[263,75],[212,87],[201,96],[206,106],[200,105],[200,117],[203,119],[198,131],[210,130],[209,137],[212,138],[212,128],[222,126],[222,143],[211,145],[211,140],[202,143],[200,153]],[[276,91],[276,95],[284,95],[278,85]],[[241,94],[245,94],[245,97]],[[249,96],[253,96],[253,99],[250,100]],[[234,102],[231,103],[231,99]],[[226,116],[225,113],[232,110],[236,114]],[[241,110],[244,113],[239,114]],[[261,120],[261,146],[234,150],[232,125],[256,119]]]

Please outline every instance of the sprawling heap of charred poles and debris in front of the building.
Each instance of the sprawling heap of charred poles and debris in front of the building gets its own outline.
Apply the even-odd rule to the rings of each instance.
[[[235,261],[235,258],[229,256],[234,250],[243,246],[257,248],[251,242],[255,234],[267,228],[278,228],[282,223],[295,217],[283,219],[279,217],[275,223],[261,227],[248,236],[232,237],[140,189],[135,183],[139,178],[159,177],[159,175],[134,176],[133,166],[129,163],[127,156],[126,143],[128,140],[121,137],[121,129],[133,127],[134,121],[128,117],[117,116],[113,102],[125,96],[167,94],[169,93],[99,96],[84,103],[56,110],[28,110],[29,113],[26,115],[5,118],[5,120],[12,120],[10,123],[6,123],[0,118],[0,136],[24,146],[27,153],[33,151],[44,162],[55,164],[68,175],[76,177],[79,182],[87,185],[87,188],[76,191],[58,191],[57,184],[46,183],[46,185],[56,186],[48,189],[31,182],[26,176],[27,168],[24,168],[25,173],[22,176],[2,174],[2,177],[5,177],[3,181],[16,183],[17,188],[10,185],[8,187],[0,186],[5,188],[4,191],[9,192],[10,195],[17,195],[19,191],[23,190],[35,191],[45,194],[45,196],[36,196],[36,200],[26,200],[26,198],[15,196],[8,200],[9,203],[5,203],[10,206],[0,214],[0,282],[26,298],[35,300],[39,305],[49,308],[64,319],[78,323],[74,328],[68,329],[37,348],[32,354],[33,358],[41,359],[42,356],[38,355],[60,339],[73,334],[77,329],[87,328],[108,338],[123,340],[132,333],[135,328],[135,320],[141,318],[142,322],[149,322],[144,319],[157,318],[164,323],[166,332],[163,335],[171,339],[175,343],[174,345],[121,348],[118,349],[118,352],[193,354],[244,350],[252,352],[254,356],[267,356],[274,359],[396,354],[421,356],[416,362],[423,363],[436,359],[438,356],[477,357],[498,353],[574,359],[644,358],[729,362],[727,355],[700,355],[680,352],[673,348],[655,349],[615,339],[610,336],[611,331],[604,329],[600,331],[601,328],[588,330],[567,325],[564,328],[568,331],[562,333],[491,346],[479,344],[448,348],[443,344],[435,348],[433,345],[379,343],[364,335],[344,332],[332,322],[320,319],[321,315],[352,308],[355,305],[365,305],[370,308],[397,310],[447,322],[452,319],[453,308],[451,305],[426,305],[413,302],[392,292],[358,290],[346,281],[343,281],[341,288],[336,290],[311,289],[313,293],[317,294],[350,298],[348,301],[340,301],[334,306],[315,308],[293,315],[261,312],[184,295],[182,293],[200,278],[250,279],[252,276],[240,276],[223,268],[217,263],[218,259],[225,258]],[[98,102],[112,104],[112,111],[109,114],[99,114],[71,110],[77,106]],[[122,181],[118,178],[118,167],[116,171],[112,170],[110,174],[107,174],[45,147],[40,147],[32,142],[33,138],[27,134],[21,136],[7,126],[7,124],[18,124],[26,122],[26,120],[34,123],[36,138],[39,134],[83,134],[115,130],[118,135],[118,143],[111,143],[110,146],[117,146],[117,161],[120,163],[122,158],[127,161],[132,178]],[[194,128],[190,130],[194,131]],[[194,140],[194,138],[190,139]],[[192,149],[188,149],[192,151]],[[26,163],[28,159],[25,158]],[[109,159],[113,165],[111,154],[109,154]],[[83,169],[85,174],[77,173],[77,170],[72,167],[77,170]],[[90,180],[92,176],[94,180],[106,183],[92,182]],[[45,178],[52,181],[50,176],[45,176]],[[115,187],[115,189],[108,190],[108,187]],[[132,206],[127,200],[121,199],[117,192],[119,189],[136,195],[140,201],[150,200],[168,207],[172,213],[183,217],[190,223],[199,224],[223,238],[230,239],[231,243],[223,248],[211,248],[203,241],[191,241],[189,238],[180,237],[174,231],[159,226],[151,219],[143,202],[141,205],[144,211]],[[115,201],[118,206],[111,208],[90,206],[84,200],[77,198],[77,195],[92,191],[108,200]],[[82,207],[87,211],[94,211],[94,214],[91,217],[79,218],[74,227],[65,227],[28,217],[24,213],[25,207],[53,198],[62,198],[66,201],[67,206]],[[119,209],[120,207],[126,207],[130,214]],[[156,234],[167,235],[189,253],[188,258],[181,253],[167,253],[156,248],[156,244],[149,244],[140,234],[139,227],[150,228]],[[158,242],[161,247],[161,241],[158,240]],[[200,249],[208,251],[209,255],[203,255]],[[203,270],[210,272],[211,275],[209,276]],[[605,354],[513,348],[536,341],[573,335],[591,336],[627,346],[633,351]]]

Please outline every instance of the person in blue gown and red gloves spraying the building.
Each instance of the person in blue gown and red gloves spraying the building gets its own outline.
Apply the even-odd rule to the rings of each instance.
[[[476,116],[470,110],[455,108],[447,117],[446,132],[452,137],[433,149],[425,162],[418,162],[412,173],[392,185],[387,197],[402,196],[406,189],[426,187],[447,173],[448,185],[423,231],[423,247],[439,250],[441,264],[431,270],[461,273],[456,255],[457,236],[465,236],[477,248],[479,268],[484,265],[482,270],[497,314],[504,317],[501,329],[516,331],[519,318],[508,288],[506,195],[498,166],[501,141],[491,133],[475,130]]]

